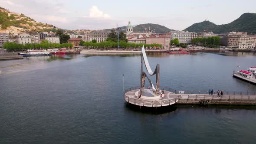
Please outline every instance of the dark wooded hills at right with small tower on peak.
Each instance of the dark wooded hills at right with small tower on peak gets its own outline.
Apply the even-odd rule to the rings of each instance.
[[[210,21],[194,23],[184,30],[197,33],[204,31],[211,31],[213,33],[226,33],[232,31],[256,33],[256,13],[243,13],[238,19],[223,25],[216,25]]]

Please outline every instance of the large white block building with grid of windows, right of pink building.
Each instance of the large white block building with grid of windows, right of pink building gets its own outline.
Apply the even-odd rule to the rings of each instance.
[[[174,32],[171,33],[171,39],[179,39],[180,43],[192,43],[192,39],[197,37],[197,33],[193,32]]]

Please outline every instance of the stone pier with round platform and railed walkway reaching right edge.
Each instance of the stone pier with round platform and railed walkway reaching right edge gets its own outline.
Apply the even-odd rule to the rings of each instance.
[[[256,95],[223,95],[217,97],[216,94],[178,94],[176,91],[167,87],[160,87],[164,90],[163,98],[143,99],[138,98],[138,87],[132,87],[125,90],[125,101],[132,105],[144,107],[163,107],[173,104],[195,104],[201,105],[205,101],[207,105],[256,105]],[[182,91],[183,92],[183,91]],[[239,92],[243,94],[242,92]]]

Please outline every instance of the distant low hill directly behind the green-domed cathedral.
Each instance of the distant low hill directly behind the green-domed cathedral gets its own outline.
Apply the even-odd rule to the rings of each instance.
[[[154,23],[145,23],[145,24],[139,24],[137,26],[134,26],[133,27],[133,31],[144,31],[145,28],[148,30],[148,28],[150,27],[151,30],[154,30],[155,33],[168,33],[170,32],[171,30],[174,30],[174,29],[169,29],[165,26],[161,26],[159,24],[154,24]],[[121,26],[119,27],[119,29],[123,32],[126,31],[126,26]],[[106,30],[112,30],[112,29],[106,29]]]

